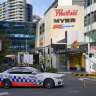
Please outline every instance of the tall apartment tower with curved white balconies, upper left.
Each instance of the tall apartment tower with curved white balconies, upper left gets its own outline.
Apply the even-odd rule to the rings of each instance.
[[[32,5],[26,0],[6,0],[0,4],[0,21],[32,22]]]

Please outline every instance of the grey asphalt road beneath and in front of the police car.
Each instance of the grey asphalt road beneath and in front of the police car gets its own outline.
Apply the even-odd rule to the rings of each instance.
[[[0,88],[0,96],[96,96],[96,82],[86,81],[83,87],[82,80],[72,75],[64,77],[64,86],[52,89],[43,87],[12,87]]]

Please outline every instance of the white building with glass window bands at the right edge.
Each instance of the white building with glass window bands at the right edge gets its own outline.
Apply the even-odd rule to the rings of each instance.
[[[96,72],[96,0],[86,0],[84,9],[84,39],[90,43],[90,53],[94,53],[85,60],[86,71]]]

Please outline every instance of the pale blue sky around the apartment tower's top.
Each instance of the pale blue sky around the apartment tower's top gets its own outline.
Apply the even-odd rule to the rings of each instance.
[[[0,3],[5,0],[0,0]],[[40,17],[44,16],[44,12],[50,7],[54,0],[26,0],[33,6],[33,14]]]

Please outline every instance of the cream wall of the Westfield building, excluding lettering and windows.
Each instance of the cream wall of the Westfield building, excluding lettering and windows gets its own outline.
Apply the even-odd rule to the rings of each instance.
[[[78,10],[77,15],[68,15],[68,16],[56,16],[56,9],[63,9],[64,12],[70,10]],[[75,22],[68,23],[54,23],[54,19],[70,19],[75,18]],[[46,15],[39,21],[37,24],[37,33],[36,33],[36,47],[39,47],[39,32],[40,24],[45,22],[45,46],[51,44],[51,39],[65,39],[65,31],[74,31],[74,30],[83,30],[84,29],[84,8],[82,6],[73,5],[73,6],[59,6],[57,8],[52,8]],[[62,29],[53,29],[54,25],[62,24],[64,26],[74,25],[74,27],[65,27]]]

